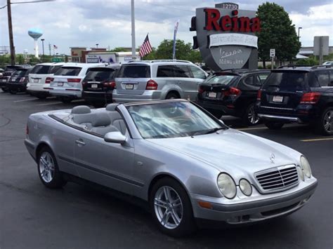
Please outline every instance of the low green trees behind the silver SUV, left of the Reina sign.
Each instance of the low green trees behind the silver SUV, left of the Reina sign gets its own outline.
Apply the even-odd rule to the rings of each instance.
[[[156,51],[156,59],[158,60],[172,60],[172,48],[174,46],[173,40],[164,39]],[[182,40],[176,40],[176,58],[178,60],[188,60],[192,51],[191,43],[185,43]]]

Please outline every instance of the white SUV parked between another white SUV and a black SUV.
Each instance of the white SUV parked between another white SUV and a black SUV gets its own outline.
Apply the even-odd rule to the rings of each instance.
[[[89,68],[106,67],[105,63],[70,63],[63,65],[51,78],[50,94],[68,103],[80,98],[82,94],[82,80]]]

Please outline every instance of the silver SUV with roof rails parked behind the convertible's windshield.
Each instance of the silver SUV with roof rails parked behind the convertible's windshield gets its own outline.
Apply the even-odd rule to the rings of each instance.
[[[195,100],[198,86],[208,74],[185,60],[133,61],[116,76],[115,102],[185,98]]]

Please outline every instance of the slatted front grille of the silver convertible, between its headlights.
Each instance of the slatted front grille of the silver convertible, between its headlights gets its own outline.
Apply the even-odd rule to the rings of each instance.
[[[282,191],[299,184],[299,176],[294,165],[264,170],[255,176],[265,192]]]

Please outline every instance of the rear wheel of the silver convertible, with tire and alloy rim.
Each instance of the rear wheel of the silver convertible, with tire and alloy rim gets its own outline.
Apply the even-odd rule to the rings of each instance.
[[[58,163],[50,148],[44,147],[39,152],[37,161],[38,175],[41,182],[50,189],[58,189],[67,183],[63,180]]]

